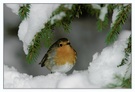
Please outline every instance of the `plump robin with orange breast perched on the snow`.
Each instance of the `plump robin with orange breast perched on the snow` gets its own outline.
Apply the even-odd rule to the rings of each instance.
[[[76,63],[76,55],[77,53],[72,48],[69,40],[61,38],[50,46],[39,64],[41,64],[41,67],[46,66],[51,72],[66,73]]]

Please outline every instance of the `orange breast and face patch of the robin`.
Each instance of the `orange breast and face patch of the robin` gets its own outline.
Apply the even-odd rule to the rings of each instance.
[[[57,65],[64,65],[65,63],[74,64],[75,62],[76,52],[69,45],[57,48],[55,57]]]

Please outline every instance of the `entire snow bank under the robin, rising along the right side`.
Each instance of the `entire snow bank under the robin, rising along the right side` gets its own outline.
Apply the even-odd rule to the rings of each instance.
[[[121,85],[122,81],[115,77],[129,78],[131,74],[131,55],[126,64],[117,67],[125,55],[130,34],[130,31],[122,31],[114,44],[93,55],[88,69],[74,70],[69,75],[56,72],[33,77],[4,65],[4,88],[107,88],[109,84]]]

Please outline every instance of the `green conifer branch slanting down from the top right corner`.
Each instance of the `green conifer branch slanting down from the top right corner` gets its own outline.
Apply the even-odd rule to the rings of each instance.
[[[116,21],[111,27],[109,34],[107,35],[106,38],[107,44],[111,44],[117,39],[118,34],[120,33],[120,30],[122,28],[122,25],[125,23],[125,21],[128,18],[128,14],[131,10],[131,5],[130,4],[127,6],[118,5],[118,8],[120,8],[121,11],[117,15]]]

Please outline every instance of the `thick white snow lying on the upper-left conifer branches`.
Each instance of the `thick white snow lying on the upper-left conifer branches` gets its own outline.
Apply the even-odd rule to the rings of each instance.
[[[25,54],[28,54],[28,46],[32,44],[32,39],[35,34],[44,28],[44,24],[49,21],[52,12],[58,8],[59,5],[60,4],[31,4],[29,17],[21,22],[18,31],[18,37],[23,42]],[[15,12],[19,9],[19,4],[11,4],[8,6]],[[61,14],[61,16],[63,16],[63,14]]]

